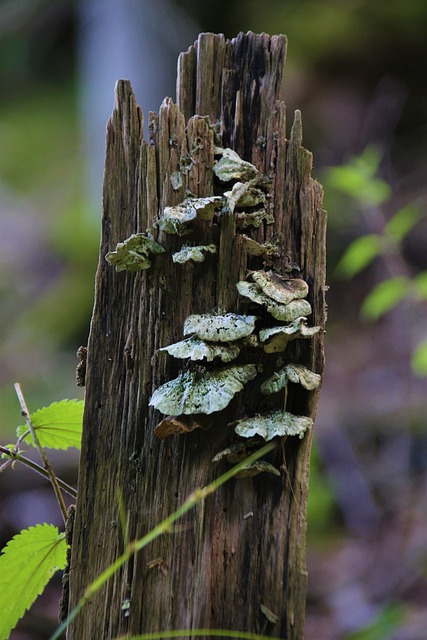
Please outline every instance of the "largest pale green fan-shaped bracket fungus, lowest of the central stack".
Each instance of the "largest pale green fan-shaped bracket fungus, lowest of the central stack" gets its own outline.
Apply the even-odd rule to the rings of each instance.
[[[156,389],[150,406],[171,416],[222,411],[256,375],[254,364],[204,373],[185,371]]]

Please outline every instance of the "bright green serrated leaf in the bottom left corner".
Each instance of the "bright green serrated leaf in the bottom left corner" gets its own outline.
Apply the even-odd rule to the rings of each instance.
[[[66,564],[67,543],[51,524],[24,529],[0,556],[0,640],[7,640],[18,620]]]

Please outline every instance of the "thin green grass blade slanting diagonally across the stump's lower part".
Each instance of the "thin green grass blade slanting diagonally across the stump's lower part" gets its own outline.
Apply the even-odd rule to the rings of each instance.
[[[141,551],[144,547],[146,547],[150,542],[161,536],[163,533],[168,533],[172,530],[172,525],[174,522],[179,520],[187,511],[190,511],[196,504],[199,502],[203,502],[211,493],[214,493],[220,486],[228,482],[233,476],[238,473],[243,466],[251,464],[255,462],[259,458],[262,458],[267,453],[272,451],[275,448],[275,443],[266,444],[264,447],[255,451],[252,455],[250,455],[246,460],[239,462],[235,467],[224,473],[222,476],[208,484],[206,487],[196,489],[193,493],[187,498],[187,500],[170,516],[168,516],[163,522],[160,522],[154,529],[149,531],[147,535],[140,538],[139,540],[134,540],[130,542],[124,553],[117,558],[110,566],[108,566],[95,580],[86,588],[83,596],[80,598],[76,607],[70,612],[66,620],[61,624],[60,627],[55,631],[53,636],[51,636],[50,640],[58,640],[61,634],[66,631],[68,624],[74,620],[77,614],[82,610],[82,608],[93,598],[93,596],[99,591],[99,589],[122,567],[132,556],[134,556],[138,551]],[[149,636],[148,636],[149,637]],[[173,636],[171,636],[173,637]]]

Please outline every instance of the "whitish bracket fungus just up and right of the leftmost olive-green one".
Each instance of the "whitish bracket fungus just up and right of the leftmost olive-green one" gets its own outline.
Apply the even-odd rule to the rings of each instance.
[[[215,211],[221,209],[223,204],[222,196],[187,198],[173,207],[165,207],[163,216],[156,221],[156,226],[166,233],[183,236],[190,233],[189,225],[193,220],[212,220]]]

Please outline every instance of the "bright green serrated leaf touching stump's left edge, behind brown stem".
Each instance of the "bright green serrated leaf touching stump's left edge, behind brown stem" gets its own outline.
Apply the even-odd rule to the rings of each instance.
[[[83,400],[61,400],[48,407],[38,409],[30,416],[34,429],[42,447],[51,449],[80,449],[83,421]],[[17,428],[16,435],[21,437],[28,431],[26,425]],[[33,447],[34,442],[29,433],[24,438],[26,444]]]

